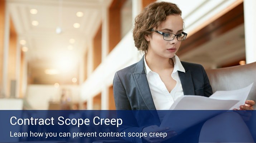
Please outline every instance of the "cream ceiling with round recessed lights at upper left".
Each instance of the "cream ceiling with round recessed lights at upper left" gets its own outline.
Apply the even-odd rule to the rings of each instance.
[[[26,56],[30,64],[56,60],[60,56],[82,53],[85,44],[92,38],[101,21],[101,11],[111,0],[7,0],[8,9],[19,39],[26,40]],[[37,14],[30,14],[37,9]],[[76,12],[83,12],[77,17]],[[32,21],[39,22],[33,26]],[[73,24],[79,23],[79,28]],[[57,26],[62,33],[55,32]],[[70,44],[69,39],[75,39]],[[68,49],[68,46],[73,49]],[[33,61],[33,62],[32,62]]]

